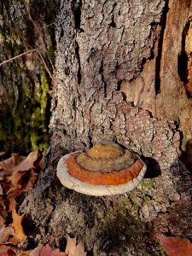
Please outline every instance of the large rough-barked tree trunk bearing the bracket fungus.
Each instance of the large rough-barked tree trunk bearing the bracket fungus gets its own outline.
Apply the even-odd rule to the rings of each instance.
[[[181,160],[192,127],[191,11],[190,0],[61,0],[48,167],[20,207],[34,241],[62,247],[68,233],[84,237],[88,255],[160,255],[155,232],[192,238]],[[61,155],[107,140],[143,155],[143,183],[103,197],[61,186]]]

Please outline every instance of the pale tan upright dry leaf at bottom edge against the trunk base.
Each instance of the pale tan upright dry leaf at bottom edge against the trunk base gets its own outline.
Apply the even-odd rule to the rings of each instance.
[[[87,253],[84,252],[84,243],[79,241],[79,244],[76,246],[76,239],[67,236],[67,247],[66,247],[66,256],[86,256]]]

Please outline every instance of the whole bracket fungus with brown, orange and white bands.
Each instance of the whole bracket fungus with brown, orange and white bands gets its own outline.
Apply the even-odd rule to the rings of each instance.
[[[86,152],[61,157],[57,177],[68,189],[86,195],[118,195],[141,183],[146,165],[118,144],[96,144]]]

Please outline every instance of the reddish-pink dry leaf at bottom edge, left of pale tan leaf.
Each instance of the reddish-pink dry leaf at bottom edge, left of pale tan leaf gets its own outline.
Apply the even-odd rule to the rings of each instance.
[[[39,245],[30,253],[30,256],[66,256],[65,253],[61,253],[59,249],[52,250],[49,244],[46,246]],[[79,255],[80,256],[80,255]]]

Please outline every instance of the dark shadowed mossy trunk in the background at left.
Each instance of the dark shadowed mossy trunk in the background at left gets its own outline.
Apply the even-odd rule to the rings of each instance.
[[[0,2],[1,151],[26,154],[48,146],[55,2]]]

